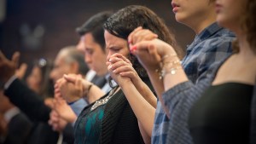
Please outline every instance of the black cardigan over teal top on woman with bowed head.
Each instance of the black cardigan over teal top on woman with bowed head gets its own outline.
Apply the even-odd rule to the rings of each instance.
[[[153,90],[149,78],[143,78],[143,82]],[[102,96],[101,99],[107,97],[108,94]],[[79,118],[75,124],[75,144],[86,143],[84,133],[88,129],[86,122],[88,122],[88,115],[96,113],[96,110],[90,111],[94,105],[91,103],[89,106],[84,107],[84,110],[79,114]],[[98,107],[99,108],[99,107]],[[100,107],[103,110],[103,118],[100,119],[100,144],[143,144],[143,137],[140,133],[137,118],[126,100],[126,97],[121,89],[113,94],[112,98]],[[98,115],[100,116],[100,115]],[[94,124],[96,125],[96,124]],[[96,126],[98,127],[98,126]]]

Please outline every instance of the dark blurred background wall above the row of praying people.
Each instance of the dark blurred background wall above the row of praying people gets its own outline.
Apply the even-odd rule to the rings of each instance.
[[[58,50],[76,44],[75,28],[102,10],[139,4],[154,10],[186,48],[194,38],[172,13],[171,0],[0,0],[0,49],[9,58],[20,51],[21,62],[44,57],[54,60]]]

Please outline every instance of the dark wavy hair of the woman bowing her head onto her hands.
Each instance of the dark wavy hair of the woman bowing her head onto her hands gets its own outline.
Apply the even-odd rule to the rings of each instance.
[[[138,26],[142,26],[144,29],[156,33],[159,39],[172,45],[177,51],[177,55],[180,58],[182,57],[182,49],[177,46],[175,37],[167,28],[164,20],[160,19],[157,14],[147,7],[139,5],[127,6],[110,16],[103,25],[106,31],[125,40],[127,40],[129,34]],[[148,77],[147,72],[138,62],[136,56],[130,54],[128,59],[131,60],[133,67],[140,77]]]

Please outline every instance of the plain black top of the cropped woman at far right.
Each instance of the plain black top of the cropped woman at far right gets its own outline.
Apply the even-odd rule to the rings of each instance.
[[[192,107],[189,130],[195,144],[248,143],[253,85],[211,86]]]

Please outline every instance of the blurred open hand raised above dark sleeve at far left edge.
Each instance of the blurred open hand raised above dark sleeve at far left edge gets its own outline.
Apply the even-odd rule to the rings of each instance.
[[[9,78],[15,75],[15,70],[19,65],[20,53],[15,52],[12,60],[8,60],[0,50],[0,81],[4,84]]]

